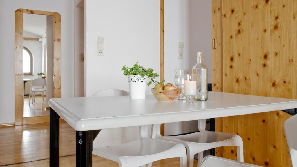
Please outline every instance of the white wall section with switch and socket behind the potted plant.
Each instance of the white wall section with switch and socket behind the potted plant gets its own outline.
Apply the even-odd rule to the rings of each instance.
[[[85,33],[86,96],[102,89],[129,91],[128,77],[121,72],[125,64],[138,61],[159,73],[159,0],[87,0]],[[105,37],[105,56],[97,56],[97,36]],[[102,130],[93,145],[135,140],[137,132],[138,127]]]

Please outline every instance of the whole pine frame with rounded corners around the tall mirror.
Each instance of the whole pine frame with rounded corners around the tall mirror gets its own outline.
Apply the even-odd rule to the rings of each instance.
[[[57,12],[17,9],[15,11],[15,125],[49,122],[49,116],[23,117],[23,14],[54,17],[54,97],[61,97],[61,15]]]

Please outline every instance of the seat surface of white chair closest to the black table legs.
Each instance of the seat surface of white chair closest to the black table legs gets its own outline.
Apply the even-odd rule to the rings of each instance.
[[[140,157],[154,155],[172,149],[177,144],[158,139],[142,138],[125,144],[93,148],[93,152],[104,152],[114,156]]]

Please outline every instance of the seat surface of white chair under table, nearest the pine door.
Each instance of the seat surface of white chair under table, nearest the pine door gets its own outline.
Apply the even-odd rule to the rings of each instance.
[[[212,131],[201,131],[180,136],[164,136],[193,143],[214,143],[225,141],[234,137],[233,134],[219,133]]]

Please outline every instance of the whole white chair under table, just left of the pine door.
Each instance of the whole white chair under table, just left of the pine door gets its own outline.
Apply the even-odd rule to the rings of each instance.
[[[157,126],[157,129],[160,128],[160,124],[154,126]],[[199,167],[203,159],[203,151],[221,146],[237,146],[237,160],[243,162],[243,141],[240,136],[207,131],[205,127],[206,119],[201,119],[198,120],[199,132],[179,136],[161,136],[160,131],[157,130],[156,138],[184,144],[187,148],[188,167],[194,166],[194,154],[198,153],[197,166]]]

